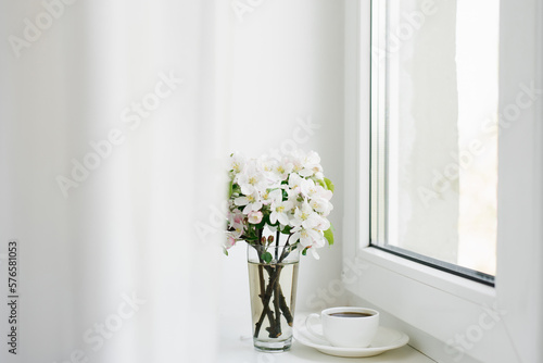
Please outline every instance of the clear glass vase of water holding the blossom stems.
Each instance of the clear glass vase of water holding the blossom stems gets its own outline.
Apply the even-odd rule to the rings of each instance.
[[[254,348],[282,352],[292,345],[300,251],[248,245]]]

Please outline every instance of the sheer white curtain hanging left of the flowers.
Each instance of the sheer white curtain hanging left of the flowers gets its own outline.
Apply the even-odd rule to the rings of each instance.
[[[216,361],[225,5],[0,2],[1,362]]]

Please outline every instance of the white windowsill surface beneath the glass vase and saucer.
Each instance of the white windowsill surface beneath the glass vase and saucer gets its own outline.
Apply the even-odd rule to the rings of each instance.
[[[307,313],[296,312],[296,322],[304,321]],[[330,362],[337,363],[341,358],[331,356],[317,350],[293,341],[290,351],[285,353],[261,353],[254,350],[251,339],[251,325],[247,318],[229,318],[223,322],[228,329],[223,328],[220,334],[219,363],[302,363],[302,362]],[[382,354],[369,358],[344,359],[349,362],[402,362],[402,363],[435,363],[409,346],[394,349]]]

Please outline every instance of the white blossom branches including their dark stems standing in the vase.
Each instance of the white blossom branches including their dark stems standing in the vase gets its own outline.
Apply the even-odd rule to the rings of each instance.
[[[330,199],[333,184],[324,176],[319,155],[295,151],[281,159],[263,157],[245,159],[230,155],[227,240],[228,249],[242,240],[255,248],[260,256],[260,286],[264,310],[256,323],[257,337],[264,318],[269,321],[269,337],[281,334],[280,314],[292,324],[292,314],[279,285],[280,265],[289,253],[301,247],[302,254],[311,251],[319,259],[317,249],[333,243],[333,231],[327,216],[333,206]],[[276,236],[263,236],[267,227]],[[281,235],[288,236],[279,254],[267,252]],[[264,272],[268,274],[266,287]],[[272,297],[274,309],[269,306]]]

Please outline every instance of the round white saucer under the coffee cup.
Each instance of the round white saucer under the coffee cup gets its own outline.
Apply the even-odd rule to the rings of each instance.
[[[340,348],[333,347],[326,340],[313,337],[305,326],[294,329],[294,338],[302,345],[315,348],[319,352],[336,356],[372,356],[381,354],[388,350],[403,347],[409,341],[409,337],[391,328],[380,326],[377,335],[367,348]]]

